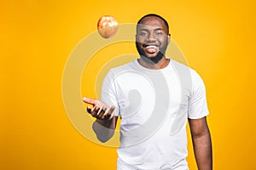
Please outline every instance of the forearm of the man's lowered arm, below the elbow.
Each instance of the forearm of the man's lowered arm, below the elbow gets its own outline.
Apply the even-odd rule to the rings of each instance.
[[[212,170],[212,142],[211,134],[206,133],[192,135],[195,160],[199,170]]]

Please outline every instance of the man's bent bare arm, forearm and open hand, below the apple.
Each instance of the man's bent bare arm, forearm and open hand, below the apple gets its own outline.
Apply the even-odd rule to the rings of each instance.
[[[107,142],[113,137],[114,129],[118,120],[118,116],[113,116],[114,106],[109,107],[104,102],[97,99],[84,98],[84,103],[93,105],[87,107],[88,113],[96,117],[93,122],[92,128],[96,133],[97,139],[101,142]]]

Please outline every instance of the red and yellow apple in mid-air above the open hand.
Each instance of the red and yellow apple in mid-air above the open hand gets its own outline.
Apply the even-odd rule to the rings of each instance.
[[[110,38],[116,33],[118,22],[113,16],[104,15],[98,20],[97,28],[102,37]]]

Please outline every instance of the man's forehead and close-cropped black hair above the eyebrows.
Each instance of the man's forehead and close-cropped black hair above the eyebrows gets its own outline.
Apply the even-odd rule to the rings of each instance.
[[[138,30],[141,29],[161,29],[167,31],[165,22],[155,16],[148,16],[144,18],[138,26]]]

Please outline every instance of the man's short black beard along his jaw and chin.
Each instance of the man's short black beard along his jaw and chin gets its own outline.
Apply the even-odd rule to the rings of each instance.
[[[160,51],[158,52],[158,54],[156,54],[154,57],[148,57],[147,54],[145,54],[145,51],[143,50],[143,48],[140,47],[140,43],[136,42],[136,48],[137,48],[138,54],[140,54],[141,59],[143,59],[149,65],[157,64],[160,61],[160,59],[162,59],[165,56],[167,45],[168,45],[168,42],[166,40],[164,47],[160,48]]]

